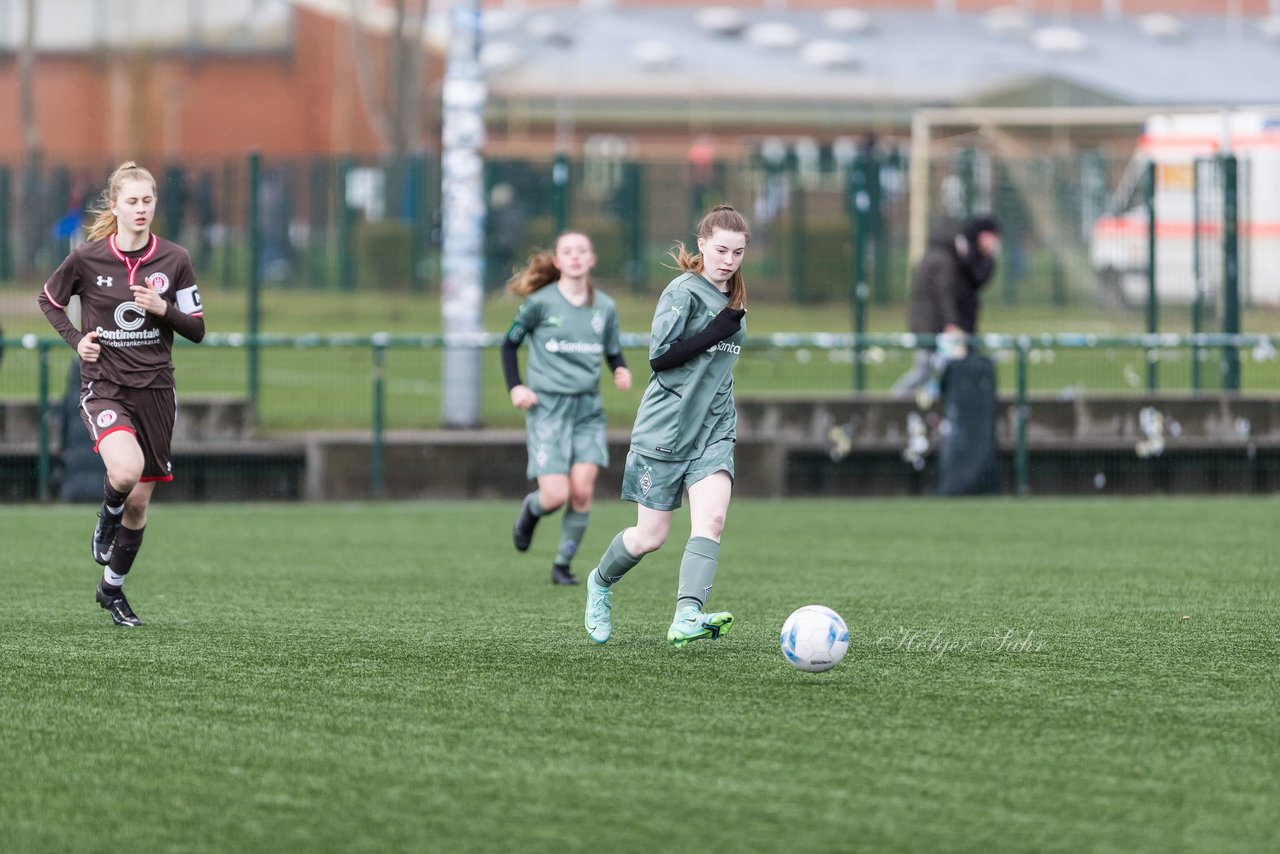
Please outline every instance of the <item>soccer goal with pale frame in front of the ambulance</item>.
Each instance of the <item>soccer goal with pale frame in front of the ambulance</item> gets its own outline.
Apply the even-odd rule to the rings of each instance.
[[[1175,124],[1197,131],[1178,132],[1175,143]],[[1196,264],[1197,242],[1203,252],[1208,232],[1226,239],[1221,182],[1197,182],[1204,172],[1194,163],[1244,151],[1244,141],[1266,133],[1280,131],[1262,111],[1228,115],[1213,106],[918,110],[909,256],[914,262],[924,254],[934,216],[993,213],[1004,227],[997,287],[1006,302],[1139,307],[1155,268],[1157,300],[1188,303],[1212,278]],[[1239,198],[1248,201],[1243,189]],[[1247,207],[1243,216],[1252,222]]]

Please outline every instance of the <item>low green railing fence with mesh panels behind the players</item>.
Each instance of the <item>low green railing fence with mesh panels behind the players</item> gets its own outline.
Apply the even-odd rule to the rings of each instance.
[[[279,437],[320,433],[360,437],[369,443],[370,494],[376,497],[383,494],[387,476],[388,433],[440,425],[436,378],[445,347],[493,351],[484,359],[484,425],[522,424],[522,414],[511,406],[502,384],[499,343],[500,337],[494,334],[465,338],[211,334],[198,347],[180,342],[175,362],[184,411],[195,403],[197,410],[192,411],[205,412],[197,416],[201,426],[188,438],[192,444],[204,443],[210,453],[216,453]],[[911,335],[750,337],[736,369],[740,405],[791,401],[808,407],[806,417],[827,412],[822,417],[829,423],[813,423],[822,428],[822,435],[806,434],[806,442],[831,440],[835,447],[845,439],[835,433],[828,435],[828,428],[846,429],[845,453],[854,458],[864,443],[881,451],[900,444],[906,475],[910,466],[928,457],[940,425],[936,419],[928,421],[927,408],[919,410],[916,416],[925,419],[919,424],[925,426],[916,426],[913,439],[914,403],[892,401],[883,389],[910,366],[914,347],[931,343]],[[63,437],[67,430],[82,431],[76,423],[74,401],[68,398],[68,392],[74,396],[78,388],[68,383],[73,353],[59,338],[27,335],[4,344],[0,449],[9,469],[6,478],[14,484],[8,497],[49,497]],[[1061,457],[1073,448],[1106,451],[1112,456],[1110,465],[1120,469],[1148,466],[1143,460],[1166,452],[1225,453],[1231,460],[1256,461],[1260,449],[1280,451],[1280,412],[1272,412],[1280,401],[1276,394],[1280,362],[1275,341],[1267,335],[984,335],[972,344],[997,362],[997,384],[1009,414],[1001,430],[1011,452],[1014,490],[1028,490],[1038,460]],[[644,364],[646,337],[627,334],[623,347],[632,364]],[[252,352],[257,353],[261,367],[256,397],[251,396],[247,379]],[[852,393],[858,365],[877,392]],[[1160,394],[1147,389],[1149,365],[1160,366]],[[1204,376],[1235,370],[1233,365],[1239,366],[1242,392],[1224,394],[1198,384]],[[639,393],[605,388],[604,396],[611,428],[630,426]],[[870,434],[865,431],[869,426],[854,424],[855,417],[845,423],[829,415],[835,411],[832,406],[855,401],[892,403],[896,408]],[[1084,402],[1091,402],[1094,410],[1082,410]],[[1248,405],[1256,405],[1257,411],[1251,414]],[[1097,406],[1121,408],[1102,416]],[[1060,412],[1064,407],[1070,412]],[[1143,415],[1146,410],[1151,412]],[[920,437],[924,446],[913,452]],[[32,488],[17,485],[19,481],[31,481]]]

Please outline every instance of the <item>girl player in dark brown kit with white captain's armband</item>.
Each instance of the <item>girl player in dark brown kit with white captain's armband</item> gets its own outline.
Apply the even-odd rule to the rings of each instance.
[[[124,579],[142,548],[155,484],[173,480],[173,335],[200,342],[205,312],[187,250],[151,233],[150,172],[122,164],[91,213],[86,242],[37,301],[79,356],[79,414],[106,467],[92,536],[93,560],[104,567],[96,599],[115,625],[134,627],[142,621],[124,598]],[[74,296],[81,329],[67,316]]]

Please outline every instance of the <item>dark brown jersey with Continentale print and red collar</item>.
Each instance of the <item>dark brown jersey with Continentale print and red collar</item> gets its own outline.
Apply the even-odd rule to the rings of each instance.
[[[183,247],[155,234],[146,248],[137,252],[116,248],[115,234],[83,243],[72,250],[45,283],[45,298],[59,309],[79,296],[81,332],[97,330],[102,351],[96,362],[81,365],[84,380],[106,380],[132,388],[173,387],[174,328],[165,318],[133,303],[129,286],[141,283],[183,315],[204,318],[191,256]],[[204,321],[197,323],[202,334]]]

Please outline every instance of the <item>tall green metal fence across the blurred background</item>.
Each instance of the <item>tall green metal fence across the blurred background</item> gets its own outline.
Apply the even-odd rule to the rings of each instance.
[[[1189,178],[1161,173],[1147,179],[1123,149],[1103,142],[1074,143],[1066,152],[1044,143],[993,154],[961,137],[929,149],[929,182],[918,192],[927,193],[933,213],[1000,218],[1006,248],[987,297],[992,302],[1061,310],[1114,305],[1129,311],[1134,332],[1151,333],[1164,330],[1157,321],[1162,302],[1188,305],[1194,291],[1203,329],[1176,330],[1236,332],[1239,311],[1262,293],[1251,278],[1272,274],[1253,269],[1248,247],[1239,246],[1235,220],[1249,198],[1234,161],[1202,161]],[[56,265],[109,169],[90,157],[36,172],[0,164],[0,280],[33,280]],[[728,201],[753,223],[758,248],[746,269],[753,297],[846,302],[858,318],[867,305],[908,294],[910,229],[916,227],[910,172],[904,143],[869,141],[852,150],[759,146],[712,164],[641,163],[611,150],[489,160],[486,286],[498,289],[530,250],[573,227],[593,237],[602,279],[648,292],[669,278],[666,254],[673,241],[691,239],[696,216]],[[157,179],[156,230],[192,250],[202,279],[255,291],[426,292],[439,284],[436,157],[250,154],[168,164]],[[1143,222],[1161,181],[1194,181],[1196,239],[1166,239]],[[1110,234],[1100,232],[1100,223],[1121,219]],[[1236,252],[1243,261],[1231,264]],[[1180,273],[1171,277],[1175,269]],[[1151,300],[1147,277],[1157,271],[1160,289]],[[1184,288],[1184,279],[1196,287]],[[1239,298],[1231,296],[1236,292]],[[1211,324],[1213,310],[1219,318]],[[856,320],[851,330],[860,330]]]

